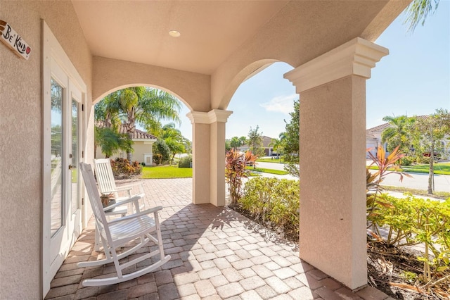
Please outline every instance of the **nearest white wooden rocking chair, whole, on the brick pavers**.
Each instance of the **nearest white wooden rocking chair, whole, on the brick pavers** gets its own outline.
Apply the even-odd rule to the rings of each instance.
[[[115,265],[115,276],[113,277],[98,277],[92,279],[83,280],[82,285],[86,286],[99,286],[99,285],[113,285],[115,283],[124,282],[127,280],[134,279],[136,277],[145,275],[156,268],[159,268],[164,263],[169,261],[170,256],[164,255],[164,249],[162,246],[162,237],[160,230],[160,221],[158,219],[158,211],[162,209],[161,206],[148,209],[146,211],[141,211],[133,215],[127,215],[122,218],[117,218],[108,222],[106,220],[105,212],[103,211],[103,206],[101,204],[100,196],[98,195],[98,190],[96,187],[96,181],[94,179],[94,173],[92,172],[91,165],[86,163],[79,163],[79,167],[83,176],[84,185],[89,196],[89,201],[91,202],[92,209],[96,218],[96,225],[98,231],[100,232],[101,242],[103,244],[103,250],[105,251],[105,259],[98,261],[84,261],[77,263],[79,267],[91,267],[95,265],[104,265],[106,263],[114,263]],[[131,197],[128,201],[135,201],[139,199],[140,196]],[[123,204],[123,202],[122,202]],[[113,206],[121,204],[113,204]],[[149,215],[153,213],[153,218]],[[153,235],[156,235],[154,237]],[[140,241],[139,241],[140,239]],[[117,249],[129,242],[138,240],[139,242],[136,246],[131,249],[124,251],[121,254],[117,254]],[[120,262],[120,259],[129,256],[130,254],[135,254],[138,249],[146,246],[148,242],[153,241],[158,245],[158,249],[155,251],[149,250],[149,252],[144,252],[143,254],[137,256],[136,258],[129,259],[127,262]],[[148,265],[141,270],[136,270],[133,273],[123,274],[122,270],[128,268],[131,265],[144,261],[152,256],[158,255],[160,259]]]

